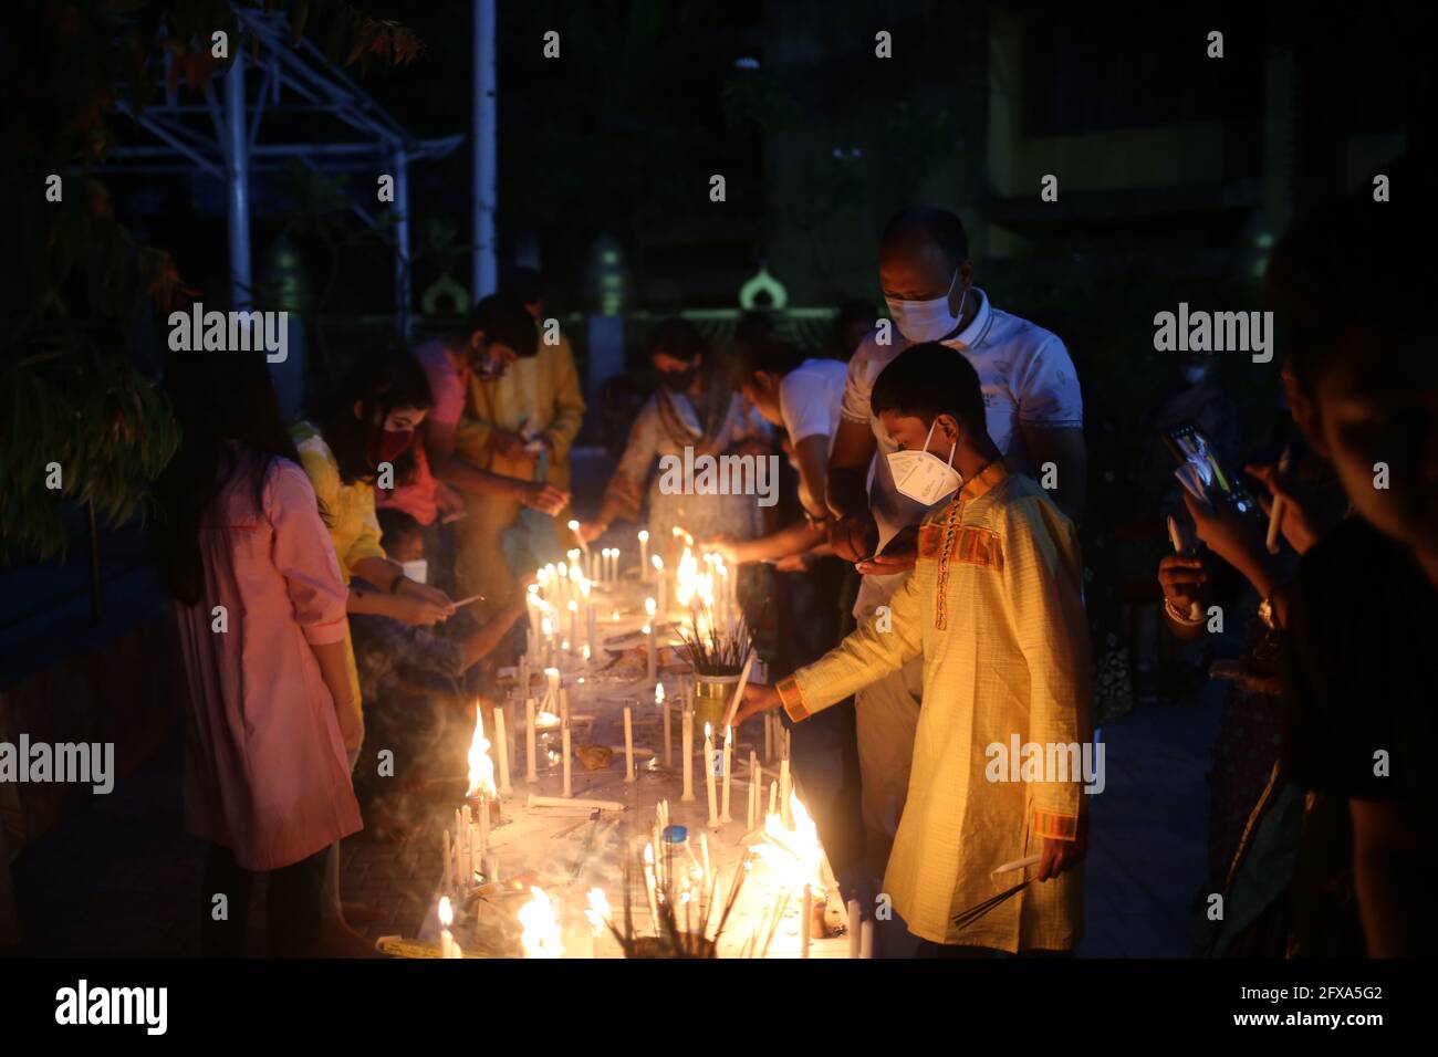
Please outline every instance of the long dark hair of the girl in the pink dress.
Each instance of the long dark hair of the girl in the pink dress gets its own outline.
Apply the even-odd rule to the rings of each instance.
[[[151,542],[165,588],[193,605],[204,591],[200,521],[220,490],[240,479],[255,509],[279,459],[299,462],[263,354],[177,352],[165,365],[181,441],[154,486]],[[234,443],[232,443],[234,441]]]

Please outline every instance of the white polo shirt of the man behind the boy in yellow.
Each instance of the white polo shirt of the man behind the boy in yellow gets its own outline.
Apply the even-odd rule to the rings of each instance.
[[[988,433],[998,449],[1009,454],[1015,439],[1020,440],[1018,447],[1022,447],[1020,426],[1081,427],[1083,395],[1078,391],[1078,372],[1074,371],[1063,341],[1043,326],[994,308],[988,295],[978,286],[971,288],[971,292],[979,299],[978,312],[968,326],[943,344],[963,352],[978,371]],[[870,467],[869,506],[879,523],[879,544],[883,546],[900,529],[923,521],[929,508],[899,495],[894,489],[889,460],[884,456],[897,452],[899,446],[889,439],[883,423],[869,407],[869,395],[880,372],[894,357],[916,342],[905,338],[897,328],[890,329],[889,345],[880,345],[877,338],[877,328],[864,335],[853,360],[848,361],[841,414],[844,421],[866,423],[879,441],[879,452]],[[948,456],[948,452],[940,456]],[[948,496],[940,502],[948,502]],[[907,572],[893,572],[864,577],[854,616],[867,617],[873,607],[881,604],[907,575]]]

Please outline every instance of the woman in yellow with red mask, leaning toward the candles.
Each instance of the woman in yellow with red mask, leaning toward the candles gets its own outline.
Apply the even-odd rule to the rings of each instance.
[[[319,499],[319,511],[348,587],[347,613],[375,613],[407,624],[434,624],[454,607],[443,591],[408,580],[380,545],[374,512],[377,488],[404,483],[413,469],[414,430],[431,404],[418,361],[403,351],[361,355],[345,380],[313,407],[312,421],[295,426],[299,460]],[[358,580],[357,580],[358,578]],[[354,643],[345,630],[345,662],[352,706],[339,718],[349,767],[364,743],[364,713]],[[331,856],[325,939],[332,948],[368,948],[344,922],[339,902],[339,846]]]

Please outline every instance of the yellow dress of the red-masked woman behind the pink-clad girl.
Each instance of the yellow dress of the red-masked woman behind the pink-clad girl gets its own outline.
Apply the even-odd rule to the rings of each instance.
[[[374,486],[364,482],[345,485],[339,476],[339,463],[329,444],[309,423],[293,429],[295,444],[299,447],[299,462],[315,489],[329,538],[339,558],[339,572],[345,585],[354,575],[354,567],[365,558],[387,558],[380,545],[380,519],[374,513]],[[355,664],[354,639],[349,621],[345,620],[345,666],[349,669],[349,690],[354,708],[339,718],[339,732],[345,749],[354,752],[364,743],[364,712],[360,700],[360,669]]]

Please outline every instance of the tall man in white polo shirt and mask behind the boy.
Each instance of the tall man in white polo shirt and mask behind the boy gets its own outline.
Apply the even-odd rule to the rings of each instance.
[[[929,207],[896,213],[883,233],[879,280],[892,325],[880,322],[850,360],[828,469],[830,542],[864,574],[858,621],[874,618],[909,575],[917,525],[929,509],[894,488],[887,456],[897,447],[869,407],[879,372],[909,345],[939,341],[968,357],[994,443],[1035,480],[1051,480],[1044,469],[1053,463],[1053,499],[1074,521],[1087,476],[1083,398],[1068,351],[1041,326],[994,308],[974,286],[968,234],[955,214]],[[880,877],[909,787],[922,669],[919,659],[854,699],[864,830],[870,867]]]

